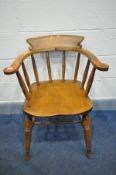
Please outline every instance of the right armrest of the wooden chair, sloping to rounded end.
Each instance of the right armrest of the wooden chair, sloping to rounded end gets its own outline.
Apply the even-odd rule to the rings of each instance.
[[[107,71],[109,69],[109,66],[105,63],[102,63],[93,53],[90,51],[84,49],[84,48],[77,48],[77,51],[80,52],[81,54],[85,55],[88,57],[90,62],[93,64],[93,66],[101,71]]]

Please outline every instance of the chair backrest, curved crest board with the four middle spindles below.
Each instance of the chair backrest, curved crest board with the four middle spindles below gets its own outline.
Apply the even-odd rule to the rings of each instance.
[[[52,80],[52,71],[51,71],[51,63],[50,60],[52,52],[60,52],[62,57],[62,80],[65,80],[65,70],[66,70],[66,52],[70,52],[71,48],[81,47],[81,42],[83,41],[83,36],[74,36],[74,35],[52,35],[52,36],[42,36],[36,38],[27,39],[29,43],[30,50],[38,50],[40,53],[44,53],[44,57],[46,57],[46,64],[48,69],[48,77],[49,80]],[[68,49],[68,50],[67,50]],[[74,52],[75,53],[75,52]],[[77,57],[74,80],[77,79],[79,62],[80,62],[80,53],[75,55]],[[31,55],[33,70],[35,74],[35,79],[39,82],[39,75],[36,66],[37,63],[37,55]]]

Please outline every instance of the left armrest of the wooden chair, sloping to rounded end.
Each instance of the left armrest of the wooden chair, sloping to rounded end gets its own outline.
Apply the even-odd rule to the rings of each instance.
[[[23,60],[30,56],[32,54],[32,51],[28,50],[20,54],[15,61],[11,64],[11,66],[6,67],[3,71],[5,74],[14,74],[17,72],[18,68],[22,64]]]

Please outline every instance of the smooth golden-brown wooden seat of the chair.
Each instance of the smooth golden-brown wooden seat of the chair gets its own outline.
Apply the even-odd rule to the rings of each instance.
[[[24,112],[36,117],[50,117],[81,114],[92,107],[92,101],[84,95],[79,81],[54,80],[31,85]]]

